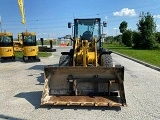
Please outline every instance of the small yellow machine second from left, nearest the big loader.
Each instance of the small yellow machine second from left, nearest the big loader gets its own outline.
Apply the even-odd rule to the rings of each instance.
[[[23,61],[40,62],[38,57],[38,46],[36,44],[36,34],[34,32],[22,32],[23,40]]]

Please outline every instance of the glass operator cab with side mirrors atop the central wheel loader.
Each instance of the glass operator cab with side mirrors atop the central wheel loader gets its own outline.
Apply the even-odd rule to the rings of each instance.
[[[107,23],[103,21],[103,27],[107,27]],[[74,19],[74,25],[72,28],[72,23],[68,22],[68,28],[72,28],[72,35],[67,35],[67,39],[71,39],[73,42],[76,39],[88,40],[88,42],[96,41],[97,50],[102,48],[102,38],[104,38],[101,33],[103,33],[103,27],[100,18],[89,18],[89,19]],[[74,33],[74,34],[73,34]]]

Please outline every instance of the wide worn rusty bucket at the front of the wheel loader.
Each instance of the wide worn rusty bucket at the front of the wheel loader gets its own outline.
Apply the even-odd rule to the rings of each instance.
[[[124,106],[124,67],[44,68],[41,105]]]

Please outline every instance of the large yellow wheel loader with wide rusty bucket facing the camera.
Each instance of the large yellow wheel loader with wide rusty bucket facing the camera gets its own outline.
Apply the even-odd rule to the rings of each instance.
[[[102,48],[100,18],[74,19],[73,49],[62,52],[59,67],[44,68],[41,105],[125,106],[124,67],[113,66]]]

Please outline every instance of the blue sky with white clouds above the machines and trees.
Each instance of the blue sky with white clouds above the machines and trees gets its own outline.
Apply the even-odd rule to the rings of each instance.
[[[108,36],[119,33],[121,22],[128,29],[137,30],[140,13],[150,12],[160,31],[160,0],[24,0],[26,24],[21,23],[18,0],[1,0],[0,22],[2,31],[36,32],[37,38],[58,38],[72,33],[67,27],[74,18],[101,18],[107,22],[103,32]]]

